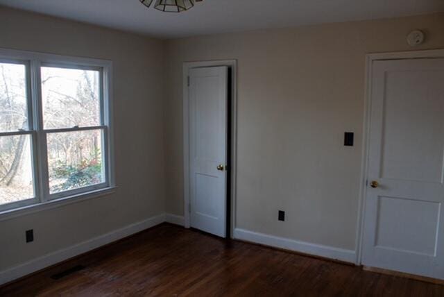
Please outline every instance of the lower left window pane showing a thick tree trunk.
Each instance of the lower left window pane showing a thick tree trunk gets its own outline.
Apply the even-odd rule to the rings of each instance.
[[[33,197],[31,137],[0,137],[0,205]]]

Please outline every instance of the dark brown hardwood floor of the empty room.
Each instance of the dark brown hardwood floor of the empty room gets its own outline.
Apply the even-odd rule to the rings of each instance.
[[[141,295],[444,296],[444,286],[165,223],[0,287],[0,296]]]

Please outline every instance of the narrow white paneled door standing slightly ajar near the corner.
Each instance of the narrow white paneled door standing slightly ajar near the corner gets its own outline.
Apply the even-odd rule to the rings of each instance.
[[[225,237],[228,67],[189,70],[191,227]]]

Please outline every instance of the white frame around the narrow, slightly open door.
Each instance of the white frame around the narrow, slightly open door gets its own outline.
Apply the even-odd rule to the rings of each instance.
[[[188,71],[191,68],[197,67],[216,67],[227,66],[231,69],[231,163],[228,164],[230,170],[230,198],[231,198],[231,230],[230,237],[233,235],[234,227],[236,226],[236,173],[237,173],[237,60],[214,60],[204,62],[184,62],[183,63],[183,165],[184,165],[184,226],[190,227],[190,213],[189,213],[189,98],[188,98]],[[230,120],[230,119],[228,119]]]

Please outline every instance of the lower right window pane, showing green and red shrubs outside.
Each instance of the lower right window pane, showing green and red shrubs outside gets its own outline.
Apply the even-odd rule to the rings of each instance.
[[[47,135],[51,194],[105,181],[102,134],[87,130]]]

